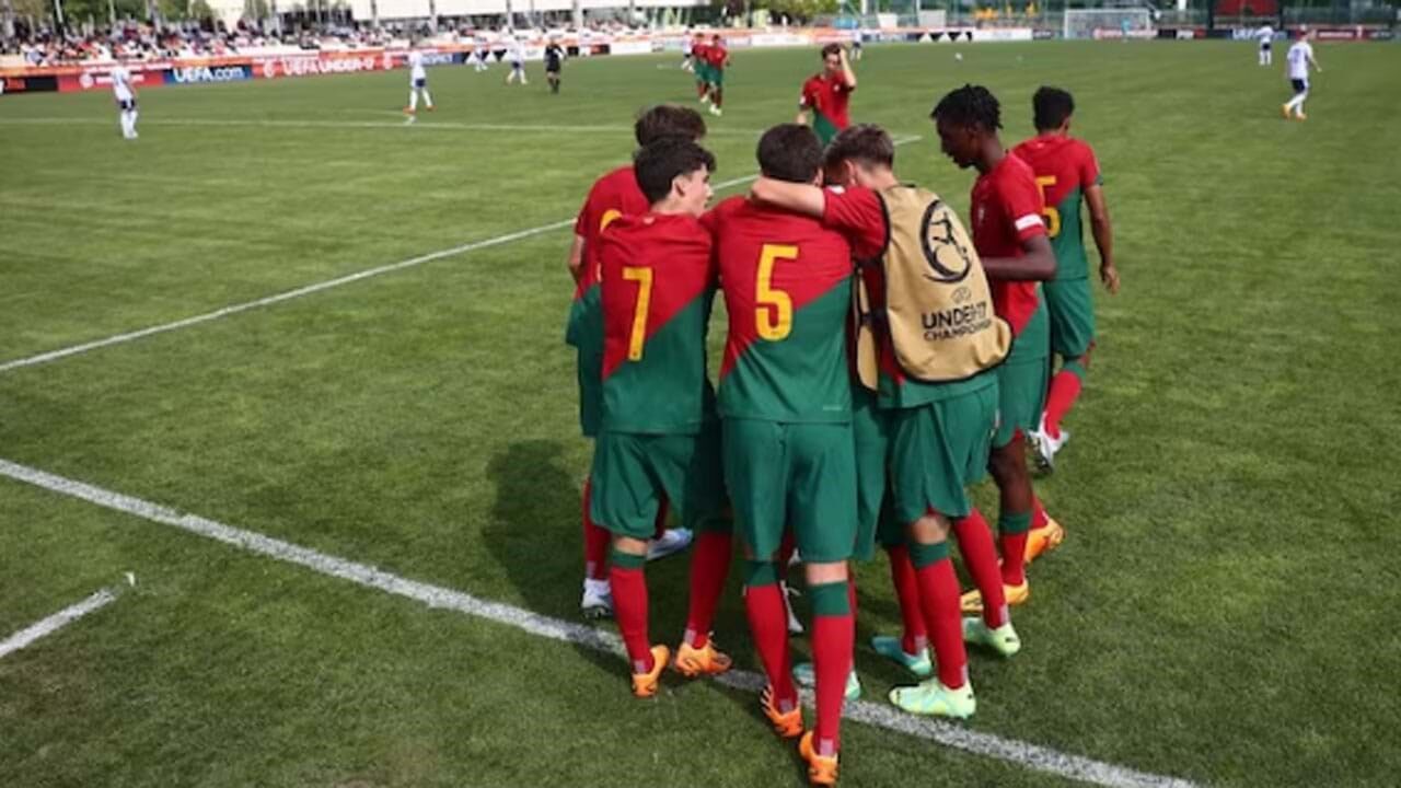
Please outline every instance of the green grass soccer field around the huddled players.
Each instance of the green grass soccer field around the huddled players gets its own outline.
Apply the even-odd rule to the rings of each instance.
[[[958,49],[867,48],[853,118],[964,212],[937,97],[986,84],[1010,144],[1073,91],[1124,290],[968,724],[888,707],[899,614],[856,568],[842,784],[1394,785],[1401,48],[1317,45],[1302,123],[1251,43]],[[820,66],[733,59],[720,195]],[[0,638],[116,590],[0,649],[0,785],[803,782],[750,688],[633,700],[577,625],[569,227],[633,112],[693,101],[677,60],[436,67],[415,125],[406,72],[150,90],[132,143],[106,94],[0,100]],[[754,672],[738,573],[716,637]],[[674,644],[686,561],[647,576]]]

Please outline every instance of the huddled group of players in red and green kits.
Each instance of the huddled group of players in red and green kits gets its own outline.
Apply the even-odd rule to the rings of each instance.
[[[855,74],[841,48],[822,57],[803,90],[800,121],[813,126],[765,132],[750,195],[709,210],[716,160],[700,146],[702,116],[674,105],[639,116],[632,165],[600,178],[576,222],[566,341],[594,439],[583,607],[616,617],[632,691],[654,695],[667,666],[685,677],[730,669],[712,623],[737,533],[762,711],[800,739],[810,781],[831,785],[842,702],[860,694],[848,561],[870,559],[876,543],[890,557],[904,631],[871,646],[922,680],[890,693],[899,708],[967,718],[965,644],[1020,651],[1009,606],[1028,599],[1026,565],[1063,538],[1033,492],[1026,440],[1042,464],[1055,460],[1094,339],[1082,202],[1100,278],[1110,292],[1119,279],[1094,154],[1069,136],[1070,94],[1041,88],[1038,133],[1010,151],[986,88],[964,86],[933,108],[943,151],[979,172],[969,241],[937,195],[899,181],[885,130],[848,123]],[[713,388],[717,290],[729,335]],[[1000,491],[996,540],[968,494],[985,473]],[[649,635],[643,572],[649,552],[689,541],[664,529],[668,508],[695,534],[675,652]],[[811,666],[790,663],[790,558],[813,607]],[[815,684],[811,729],[804,679]]]

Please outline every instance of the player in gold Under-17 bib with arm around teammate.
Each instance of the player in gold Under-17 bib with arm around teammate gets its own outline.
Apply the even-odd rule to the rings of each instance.
[[[821,217],[824,226],[848,238],[856,259],[862,261],[870,308],[860,311],[870,314],[860,315],[857,331],[863,384],[857,397],[864,397],[864,386],[876,386],[878,391],[867,402],[857,400],[855,405],[853,442],[862,491],[857,499],[863,510],[862,524],[866,526],[876,519],[880,508],[888,464],[890,510],[895,530],[901,533],[888,533],[883,523],[881,531],[885,533],[881,541],[891,554],[908,644],[902,648],[892,638],[877,638],[871,645],[923,677],[933,672],[923,645],[926,638],[930,639],[937,676],[915,687],[894,690],[891,701],[916,714],[965,718],[974,714],[976,701],[968,681],[965,627],[958,616],[958,578],[948,557],[950,530],[958,538],[969,572],[988,586],[986,625],[978,628],[974,639],[1009,656],[1020,648],[1006,606],[1000,603],[1002,578],[992,536],[967,492],[988,466],[998,407],[998,380],[991,369],[1006,353],[1009,335],[1006,325],[991,317],[988,286],[976,258],[946,248],[950,234],[930,224],[941,202],[930,192],[901,184],[892,168],[894,161],[895,146],[888,133],[871,125],[852,126],[839,133],[827,150],[827,178],[838,186],[817,189],[759,178],[754,184],[754,195]],[[950,230],[953,222],[950,217]],[[933,264],[943,268],[944,258],[934,247],[962,258],[962,271],[955,279],[943,280],[939,290],[957,299],[961,304],[954,307],[958,315],[972,318],[961,324],[967,331],[950,331],[941,338],[932,332],[936,334],[934,341],[948,358],[968,359],[967,351],[982,346],[989,332],[1000,339],[991,356],[981,356],[957,373],[940,374],[937,380],[923,380],[913,377],[915,373],[897,358],[890,330],[895,321],[888,308],[897,300],[890,297],[897,285],[887,272],[913,272],[913,279],[899,279],[904,290],[899,301],[908,303],[908,297],[916,297],[915,292],[925,289],[912,285],[912,280],[927,282],[926,272],[941,275]],[[925,317],[937,320],[954,314],[936,310],[919,308],[916,318],[927,325]],[[870,351],[863,351],[870,346],[860,341],[867,330],[876,334],[878,362],[870,359]],[[925,328],[918,334],[919,341],[927,341]],[[901,349],[909,349],[904,342],[906,337],[902,332]],[[870,381],[867,374],[870,363],[878,363],[877,381]]]

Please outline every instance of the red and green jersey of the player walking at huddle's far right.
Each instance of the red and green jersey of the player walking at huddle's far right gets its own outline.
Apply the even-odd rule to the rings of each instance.
[[[1041,215],[1055,250],[1055,278],[1084,279],[1090,275],[1090,261],[1084,252],[1080,201],[1084,189],[1104,182],[1094,150],[1073,137],[1042,135],[1019,144],[1013,153],[1031,165],[1041,189]]]

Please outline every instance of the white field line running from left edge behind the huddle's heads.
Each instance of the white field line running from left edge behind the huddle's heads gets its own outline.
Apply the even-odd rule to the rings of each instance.
[[[899,140],[895,142],[895,144],[905,144],[908,142],[915,142],[918,139],[919,137],[901,137]],[[716,189],[716,191],[727,189],[730,186],[737,186],[740,184],[747,184],[747,182],[755,179],[755,178],[758,178],[758,175],[745,175],[743,178],[734,178],[734,179],[730,179],[730,181],[722,181],[719,184],[713,184],[712,188]],[[520,241],[523,238],[530,238],[531,236],[539,236],[542,233],[549,233],[552,230],[559,230],[562,227],[569,227],[569,226],[573,226],[573,223],[574,223],[573,219],[563,219],[560,222],[552,222],[549,224],[541,224],[539,227],[531,227],[530,230],[520,230],[520,231],[516,231],[516,233],[507,233],[504,236],[496,236],[495,238],[486,238],[483,241],[472,241],[469,244],[462,244],[462,245],[447,248],[447,250],[439,250],[436,252],[429,252],[429,254],[425,254],[425,255],[412,257],[409,259],[401,259],[399,262],[391,262],[391,264],[387,264],[387,265],[380,265],[380,266],[375,266],[375,268],[368,268],[366,271],[359,271],[356,273],[349,273],[346,276],[339,276],[336,279],[328,279],[325,282],[317,282],[315,285],[305,285],[305,286],[297,287],[294,290],[284,290],[282,293],[276,293],[276,294],[272,294],[272,296],[268,296],[268,297],[263,297],[263,299],[256,299],[256,300],[252,300],[252,301],[244,301],[241,304],[233,304],[233,306],[227,306],[227,307],[220,307],[220,308],[217,308],[214,311],[206,311],[203,314],[196,314],[193,317],[186,317],[186,318],[177,320],[177,321],[172,321],[172,322],[163,322],[160,325],[150,325],[147,328],[140,328],[137,331],[127,331],[125,334],[116,334],[113,337],[106,337],[104,339],[94,339],[91,342],[83,342],[80,345],[71,345],[69,348],[60,348],[57,351],[49,351],[46,353],[38,353],[38,355],[22,358],[22,359],[13,359],[13,360],[0,363],[0,374],[4,374],[7,372],[10,372],[10,370],[27,367],[27,366],[36,366],[36,365],[43,365],[43,363],[55,362],[55,360],[59,360],[59,359],[64,359],[67,356],[76,356],[78,353],[87,353],[88,351],[97,351],[99,348],[109,348],[112,345],[122,345],[122,344],[126,344],[126,342],[132,342],[134,339],[144,339],[146,337],[154,337],[156,334],[165,334],[167,331],[177,331],[177,330],[181,330],[181,328],[189,328],[192,325],[199,325],[202,322],[209,322],[212,320],[220,320],[220,318],[224,318],[224,317],[228,317],[228,315],[233,315],[233,314],[238,314],[238,313],[242,313],[242,311],[248,311],[248,310],[255,310],[255,308],[261,308],[261,307],[277,304],[277,303],[282,303],[282,301],[290,301],[293,299],[300,299],[303,296],[310,296],[312,293],[319,293],[322,290],[329,290],[332,287],[339,287],[342,285],[349,285],[352,282],[359,282],[361,279],[370,279],[371,276],[380,276],[382,273],[391,273],[391,272],[395,272],[395,271],[402,271],[405,268],[413,268],[416,265],[423,265],[425,262],[432,262],[434,259],[443,259],[443,258],[447,258],[447,257],[457,257],[460,254],[467,254],[467,252],[476,251],[476,250],[485,250],[488,247],[499,247],[502,244],[510,244],[513,241]]]

